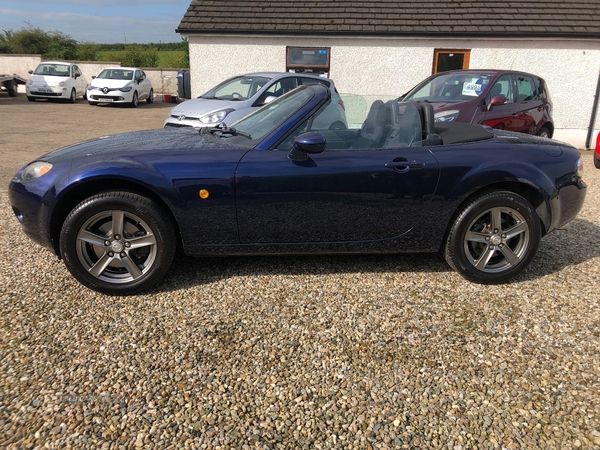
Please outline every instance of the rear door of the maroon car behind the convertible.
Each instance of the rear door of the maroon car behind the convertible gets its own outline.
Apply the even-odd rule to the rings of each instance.
[[[519,113],[514,131],[536,134],[544,119],[544,104],[541,98],[540,81],[526,74],[516,75],[517,104]]]

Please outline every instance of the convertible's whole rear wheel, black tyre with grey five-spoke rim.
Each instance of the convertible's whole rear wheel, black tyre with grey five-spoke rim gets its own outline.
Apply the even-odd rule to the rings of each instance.
[[[491,192],[460,210],[444,257],[470,281],[496,284],[521,273],[537,253],[540,220],[531,204],[508,191]]]

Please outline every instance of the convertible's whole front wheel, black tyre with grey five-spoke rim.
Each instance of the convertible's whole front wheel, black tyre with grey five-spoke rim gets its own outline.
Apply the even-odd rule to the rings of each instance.
[[[153,201],[130,192],[94,195],[66,218],[60,253],[84,286],[130,295],[158,283],[176,248],[173,224]]]

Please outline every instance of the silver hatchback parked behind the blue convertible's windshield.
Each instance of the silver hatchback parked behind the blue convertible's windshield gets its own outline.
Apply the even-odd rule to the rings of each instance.
[[[336,107],[330,108],[320,128],[347,128],[344,103],[333,81],[316,75],[291,72],[259,72],[240,75],[218,84],[198,98],[187,100],[174,107],[165,120],[165,127],[214,127],[241,119],[252,111],[279,96],[306,84],[322,84],[331,90]]]

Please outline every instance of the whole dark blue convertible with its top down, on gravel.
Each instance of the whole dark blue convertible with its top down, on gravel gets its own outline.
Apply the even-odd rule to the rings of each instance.
[[[231,126],[108,136],[42,156],[9,196],[23,230],[85,286],[125,295],[189,255],[441,251],[507,281],[573,219],[579,152],[436,123],[428,103],[375,101],[362,127],[315,129],[328,89],[302,86]],[[322,117],[322,116],[321,116]]]

